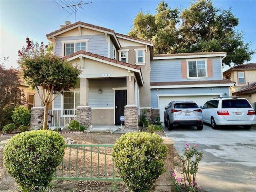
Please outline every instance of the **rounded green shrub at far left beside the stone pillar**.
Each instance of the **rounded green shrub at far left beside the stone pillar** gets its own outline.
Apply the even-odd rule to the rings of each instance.
[[[14,123],[16,123],[17,125],[29,126],[30,116],[31,116],[31,112],[28,108],[24,106],[18,106],[17,108],[14,109],[14,112],[12,114],[12,119]]]

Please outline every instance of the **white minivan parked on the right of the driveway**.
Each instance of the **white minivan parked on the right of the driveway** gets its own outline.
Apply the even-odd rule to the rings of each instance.
[[[255,111],[246,98],[218,97],[202,107],[204,122],[216,129],[220,125],[238,125],[250,129],[256,124]]]

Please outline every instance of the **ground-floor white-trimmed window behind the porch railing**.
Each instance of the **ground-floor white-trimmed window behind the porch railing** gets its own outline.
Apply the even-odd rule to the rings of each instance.
[[[80,92],[70,91],[63,93],[63,115],[74,115],[76,107],[80,104]]]

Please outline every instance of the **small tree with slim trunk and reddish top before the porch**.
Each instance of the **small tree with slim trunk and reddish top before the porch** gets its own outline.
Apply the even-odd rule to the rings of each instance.
[[[27,46],[18,51],[18,63],[26,84],[36,90],[44,105],[43,128],[46,130],[49,104],[59,94],[78,84],[81,70],[68,63],[66,58],[46,51],[48,46],[44,46],[43,42],[38,44],[26,38],[26,43]]]

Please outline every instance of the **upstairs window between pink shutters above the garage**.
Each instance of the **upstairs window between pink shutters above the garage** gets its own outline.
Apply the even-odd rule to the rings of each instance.
[[[188,61],[188,77],[206,77],[206,60]]]

